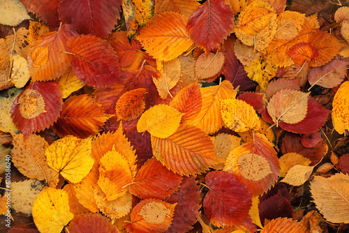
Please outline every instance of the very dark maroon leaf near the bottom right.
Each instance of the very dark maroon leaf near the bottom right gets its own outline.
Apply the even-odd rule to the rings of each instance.
[[[267,200],[260,202],[258,210],[260,212],[260,221],[263,225],[266,219],[272,220],[279,217],[293,218],[292,205],[283,197],[280,191]]]

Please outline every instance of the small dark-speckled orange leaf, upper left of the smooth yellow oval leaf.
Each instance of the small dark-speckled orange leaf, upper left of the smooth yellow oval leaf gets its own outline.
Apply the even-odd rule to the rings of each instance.
[[[117,118],[125,121],[138,119],[145,109],[144,93],[146,91],[146,89],[140,88],[127,91],[120,96],[115,111]]]

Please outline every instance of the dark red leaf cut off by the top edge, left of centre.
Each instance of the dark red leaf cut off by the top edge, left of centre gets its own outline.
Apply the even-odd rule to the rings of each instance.
[[[71,24],[78,33],[105,38],[117,24],[120,6],[119,0],[62,0],[58,11],[61,21]]]

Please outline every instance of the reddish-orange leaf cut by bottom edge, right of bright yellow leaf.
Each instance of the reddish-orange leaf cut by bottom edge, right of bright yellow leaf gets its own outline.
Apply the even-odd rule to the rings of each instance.
[[[69,232],[110,232],[119,233],[119,230],[109,218],[101,216],[98,213],[87,213],[84,215],[77,215],[69,223]]]

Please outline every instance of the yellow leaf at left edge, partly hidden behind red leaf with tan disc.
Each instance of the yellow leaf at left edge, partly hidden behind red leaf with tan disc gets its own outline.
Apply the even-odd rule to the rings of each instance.
[[[0,130],[3,132],[17,133],[20,131],[13,123],[10,110],[13,101],[21,91],[21,89],[13,87],[7,90],[7,96],[0,96]]]

